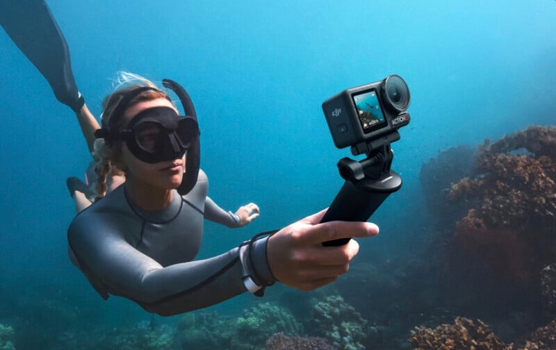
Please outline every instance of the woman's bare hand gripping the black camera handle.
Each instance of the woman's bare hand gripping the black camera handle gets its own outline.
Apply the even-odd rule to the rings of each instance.
[[[326,210],[306,217],[268,239],[268,265],[275,278],[300,290],[313,290],[345,274],[359,244],[350,240],[338,247],[323,247],[322,242],[338,238],[373,237],[378,226],[368,222],[326,222]]]

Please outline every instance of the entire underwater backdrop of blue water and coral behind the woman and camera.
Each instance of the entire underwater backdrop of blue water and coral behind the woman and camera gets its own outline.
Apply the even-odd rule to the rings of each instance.
[[[404,183],[326,288],[166,318],[103,301],[67,257],[79,125],[0,31],[0,349],[556,349],[556,1],[47,2],[93,114],[118,71],[178,81],[209,196],[260,206],[207,222],[199,258],[326,208],[351,153],[321,103],[389,74],[411,90]]]

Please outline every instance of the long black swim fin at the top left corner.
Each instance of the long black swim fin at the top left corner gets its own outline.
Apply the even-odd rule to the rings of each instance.
[[[0,25],[49,82],[56,99],[79,112],[70,50],[44,0],[0,0]]]

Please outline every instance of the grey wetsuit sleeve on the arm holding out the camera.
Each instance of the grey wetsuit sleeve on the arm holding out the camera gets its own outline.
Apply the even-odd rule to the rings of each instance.
[[[78,218],[68,229],[74,263],[97,290],[136,301],[152,313],[168,316],[205,308],[245,292],[246,276],[272,278],[266,265],[268,238],[253,249],[243,245],[213,258],[163,267],[117,234],[116,219],[99,218],[93,230]],[[255,269],[245,262],[265,266]]]

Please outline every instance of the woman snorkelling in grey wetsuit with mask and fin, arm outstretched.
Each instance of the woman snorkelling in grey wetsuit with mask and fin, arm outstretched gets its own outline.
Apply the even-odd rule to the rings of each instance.
[[[38,7],[27,6],[28,2]],[[36,20],[44,19],[44,26],[55,29],[45,31],[39,25],[31,26],[38,33],[28,31],[24,23],[16,23],[17,17],[25,17],[25,10],[0,17],[28,58],[41,61],[40,50],[17,40],[38,38],[41,33],[58,35],[60,40],[61,33],[44,1],[0,1],[0,13],[18,4],[31,12],[42,10],[44,16]],[[47,46],[56,42],[49,35],[43,39]],[[73,76],[68,80],[65,69],[50,74],[49,65],[63,68],[64,62],[69,63],[65,42],[57,47],[60,61],[33,63],[49,79],[56,97],[79,113],[84,105],[71,84]],[[99,145],[100,161],[124,169],[126,181],[77,215],[67,232],[70,258],[103,297],[126,297],[150,312],[174,315],[247,291],[261,295],[275,281],[313,290],[347,272],[359,251],[355,240],[337,247],[323,247],[321,242],[378,233],[376,225],[364,222],[320,224],[322,210],[272,235],[255,236],[220,256],[193,260],[201,244],[203,220],[218,221],[219,213],[206,197],[204,173],[190,170],[198,169],[197,162],[187,158],[195,160],[199,140],[191,117],[187,111],[186,117],[180,117],[165,93],[153,87],[133,86],[108,97],[97,134],[104,140]]]

